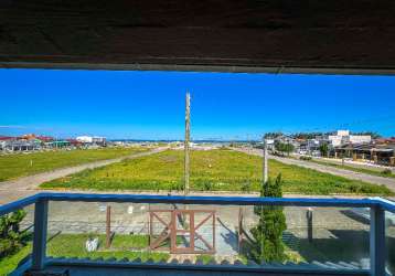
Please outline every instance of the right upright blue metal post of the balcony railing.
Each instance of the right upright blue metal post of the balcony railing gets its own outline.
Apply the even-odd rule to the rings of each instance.
[[[371,208],[371,275],[385,275],[385,213],[381,206]]]

